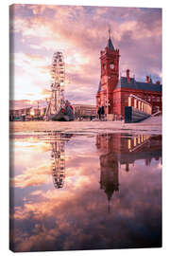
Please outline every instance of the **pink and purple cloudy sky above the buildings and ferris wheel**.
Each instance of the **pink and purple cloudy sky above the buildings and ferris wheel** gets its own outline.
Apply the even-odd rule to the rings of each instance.
[[[13,5],[10,7],[10,100],[14,107],[45,105],[54,52],[65,62],[65,98],[95,104],[100,50],[120,50],[120,74],[153,82],[161,75],[161,9]]]

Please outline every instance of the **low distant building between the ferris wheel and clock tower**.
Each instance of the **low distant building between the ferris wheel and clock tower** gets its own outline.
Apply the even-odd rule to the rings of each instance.
[[[95,117],[95,106],[94,105],[85,105],[85,104],[74,104],[76,119],[88,119],[90,117]]]

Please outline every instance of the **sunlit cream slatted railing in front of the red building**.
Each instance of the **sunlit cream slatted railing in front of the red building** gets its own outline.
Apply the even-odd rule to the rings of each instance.
[[[132,106],[148,115],[152,114],[152,105],[133,94],[128,96],[128,106]]]

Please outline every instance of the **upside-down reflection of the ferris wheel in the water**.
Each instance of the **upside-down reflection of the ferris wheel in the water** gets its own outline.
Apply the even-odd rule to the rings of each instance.
[[[51,170],[53,176],[53,183],[56,189],[63,187],[65,179],[65,142],[68,141],[72,135],[59,134],[53,132],[50,134],[51,151]]]

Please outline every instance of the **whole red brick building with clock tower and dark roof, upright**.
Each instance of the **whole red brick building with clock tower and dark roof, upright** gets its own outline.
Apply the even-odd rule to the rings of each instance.
[[[161,83],[152,82],[149,76],[145,82],[137,82],[130,78],[129,69],[126,77],[119,78],[119,58],[119,49],[114,48],[109,36],[105,50],[100,52],[101,76],[96,93],[96,111],[99,106],[104,106],[105,114],[113,114],[115,119],[124,118],[130,94],[150,103],[152,114],[161,111]]]

